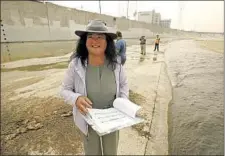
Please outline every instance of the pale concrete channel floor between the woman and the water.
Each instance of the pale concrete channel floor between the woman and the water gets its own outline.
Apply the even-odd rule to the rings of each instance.
[[[153,46],[147,46],[147,55],[139,55],[139,47],[134,46],[128,54],[125,68],[129,87],[141,95],[137,101],[142,106],[143,124],[121,130],[118,154],[167,155],[168,154],[168,104],[172,99],[171,83],[164,63],[164,50],[152,61]],[[139,56],[138,56],[139,55]],[[136,56],[136,58],[134,57]],[[137,60],[139,60],[137,62]]]

